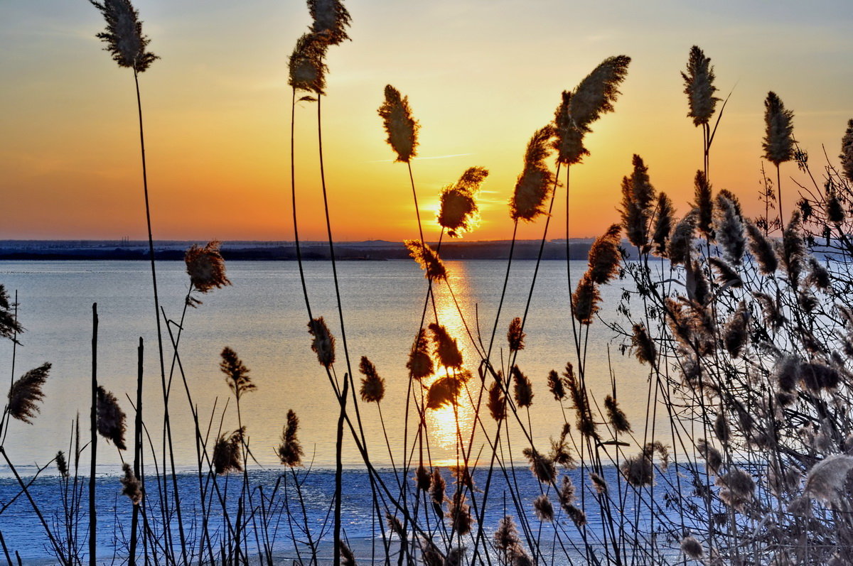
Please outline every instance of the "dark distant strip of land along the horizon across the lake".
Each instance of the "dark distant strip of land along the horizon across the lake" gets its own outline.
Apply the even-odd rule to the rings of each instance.
[[[593,239],[572,239],[569,248],[572,259],[585,260]],[[154,258],[165,261],[183,260],[184,251],[192,244],[205,242],[162,240],[154,243]],[[436,246],[431,242],[430,245]],[[536,259],[541,242],[515,242],[514,259]],[[328,260],[328,242],[301,242],[302,258],[309,261]],[[629,249],[627,245],[625,249]],[[499,259],[509,255],[509,240],[444,241],[441,257],[454,259]],[[222,254],[226,261],[293,261],[296,246],[293,241],[223,241]],[[401,242],[386,240],[342,241],[334,244],[334,254],[340,260],[384,261],[405,259],[409,252]],[[0,260],[146,260],[148,242],[143,240],[0,240]],[[566,240],[549,240],[543,248],[543,259],[566,259]]]

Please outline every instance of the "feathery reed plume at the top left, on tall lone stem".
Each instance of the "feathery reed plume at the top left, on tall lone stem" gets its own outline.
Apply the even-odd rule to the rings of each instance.
[[[150,40],[142,35],[142,22],[139,12],[133,8],[130,0],[104,0],[90,3],[101,11],[107,21],[107,30],[95,37],[107,43],[105,51],[113,55],[113,61],[119,66],[131,67],[134,72],[144,72],[151,66],[157,55],[146,51]]]

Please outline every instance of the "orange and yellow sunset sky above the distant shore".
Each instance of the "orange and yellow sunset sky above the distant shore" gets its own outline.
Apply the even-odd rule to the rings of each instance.
[[[292,240],[291,90],[287,57],[310,24],[305,3],[134,0],[160,60],[140,75],[155,240]],[[508,199],[532,133],[599,62],[630,55],[616,112],[593,124],[591,155],[572,167],[570,235],[618,222],[631,156],[688,210],[702,165],[680,72],[693,44],[731,93],[711,148],[711,182],[756,216],[763,100],[794,112],[794,136],[820,171],[837,163],[853,118],[849,0],[345,0],[351,42],[328,53],[322,136],[335,240],[417,237],[406,165],[394,163],[376,113],[386,84],[421,124],[412,161],[427,240],[439,190],[473,165],[490,170],[482,224],[467,240],[512,234]],[[145,237],[131,70],[95,38],[84,0],[0,6],[0,239]],[[316,105],[295,112],[300,236],[325,238]],[[771,169],[772,165],[768,165]],[[802,179],[782,165],[786,203]],[[565,182],[565,177],[563,177]],[[565,187],[548,238],[565,237]],[[542,220],[519,229],[542,237]]]

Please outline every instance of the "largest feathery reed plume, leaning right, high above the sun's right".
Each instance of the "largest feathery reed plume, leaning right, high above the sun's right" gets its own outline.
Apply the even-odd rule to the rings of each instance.
[[[583,136],[591,132],[589,124],[601,114],[613,112],[619,95],[618,85],[628,74],[630,57],[608,57],[577,84],[573,92],[564,91],[554,113],[558,161],[566,165],[579,163],[589,151],[583,147]]]

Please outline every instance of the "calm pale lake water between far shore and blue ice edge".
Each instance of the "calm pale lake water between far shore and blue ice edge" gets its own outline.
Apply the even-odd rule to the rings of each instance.
[[[459,261],[447,264],[456,300],[471,332],[476,338],[479,328],[483,342],[488,344],[506,263]],[[508,323],[524,313],[534,267],[533,261],[513,263],[492,354],[498,366],[502,356],[505,359],[507,354]],[[314,315],[325,316],[338,338],[336,366],[342,377],[345,359],[334,303],[331,264],[311,262],[306,263],[305,268]],[[386,380],[381,411],[392,444],[391,456],[385,448],[377,407],[363,404],[361,409],[374,462],[387,465],[392,456],[397,461],[402,458],[403,408],[408,385],[405,363],[421,321],[427,280],[415,263],[409,261],[345,262],[339,263],[338,268],[353,371],[357,373],[358,361],[366,355]],[[584,262],[572,262],[572,279],[577,280],[585,268]],[[204,428],[212,422],[213,437],[219,430],[220,420],[223,431],[237,427],[234,397],[218,367],[220,352],[224,346],[229,346],[251,369],[252,383],[257,386],[241,398],[241,413],[258,463],[277,465],[274,447],[279,442],[287,409],[292,408],[299,415],[299,438],[305,448],[305,460],[313,460],[321,467],[333,465],[338,411],[325,371],[310,349],[297,264],[233,262],[228,265],[228,276],[233,286],[200,296],[204,303],[188,310],[179,349],[181,365]],[[183,262],[159,263],[158,280],[165,314],[178,320],[189,286]],[[20,463],[21,469],[26,471],[27,466],[32,469],[32,465],[49,461],[57,450],[67,450],[72,423],[78,414],[83,421],[84,436],[88,436],[92,303],[97,303],[100,320],[99,381],[119,398],[131,419],[131,403],[127,396],[136,399],[137,345],[140,337],[144,340],[143,414],[151,441],[159,446],[163,402],[148,263],[3,262],[0,263],[0,283],[13,297],[15,290],[18,291],[19,319],[26,327],[20,337],[23,345],[17,349],[15,377],[44,361],[53,364],[38,419],[33,425],[13,421],[10,426],[6,448],[16,465]],[[622,288],[629,284],[627,280],[617,280],[602,289],[601,315],[605,319],[617,318],[618,299]],[[479,357],[446,286],[436,286],[435,295],[438,319],[458,338],[466,367],[474,373],[470,389],[476,401]],[[575,359],[569,296],[566,263],[544,262],[537,276],[525,326],[526,347],[519,352],[517,360],[533,382],[535,399],[530,418],[533,437],[543,448],[548,447],[550,436],[559,435],[563,423],[560,403],[554,401],[547,389],[548,371],[561,372],[566,361]],[[173,327],[172,330],[177,329]],[[647,370],[633,358],[621,355],[620,343],[613,338],[613,332],[601,322],[592,326],[587,349],[588,384],[603,398],[610,392],[612,369],[620,402],[629,418],[640,425],[645,415]],[[168,373],[171,348],[165,329],[164,341]],[[0,344],[0,368],[8,375],[11,375],[11,361],[12,344],[5,341]],[[357,373],[357,377],[361,375]],[[174,379],[170,409],[175,460],[179,468],[191,469],[195,448],[189,403],[177,371]],[[466,396],[463,394],[463,397]],[[429,417],[433,462],[454,461],[453,410],[446,407],[431,411]],[[464,434],[473,423],[470,402],[461,404],[459,419]],[[132,426],[131,420],[129,425]],[[475,441],[473,452],[477,453],[482,444],[482,441]],[[102,443],[98,454],[102,471],[118,471],[119,457],[113,447]],[[520,458],[520,455],[515,457]],[[346,442],[344,460],[351,466],[362,461],[352,442]]]

